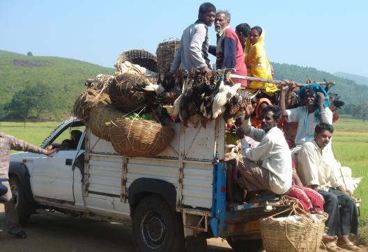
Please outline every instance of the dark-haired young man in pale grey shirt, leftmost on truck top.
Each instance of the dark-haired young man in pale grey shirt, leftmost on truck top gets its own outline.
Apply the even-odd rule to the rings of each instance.
[[[216,7],[212,3],[199,6],[198,20],[183,31],[181,43],[171,64],[169,75],[181,65],[184,70],[210,72],[212,65],[208,58],[208,26],[215,21]]]

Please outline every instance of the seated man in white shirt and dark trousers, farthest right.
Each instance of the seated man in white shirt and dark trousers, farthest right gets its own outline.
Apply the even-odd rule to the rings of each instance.
[[[328,220],[325,223],[328,226],[326,235],[337,236],[338,246],[358,251],[358,247],[348,239],[351,233],[355,235],[358,233],[358,211],[353,198],[339,180],[335,157],[328,148],[325,148],[330,143],[333,130],[329,123],[316,125],[314,139],[302,145],[300,149],[298,173],[306,187],[318,191],[325,199],[324,208],[328,213]]]

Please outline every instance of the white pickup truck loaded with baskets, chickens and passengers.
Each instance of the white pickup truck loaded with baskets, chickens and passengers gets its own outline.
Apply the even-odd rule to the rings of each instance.
[[[258,219],[282,211],[278,201],[229,211],[226,200],[224,120],[174,128],[169,146],[155,157],[124,157],[91,134],[77,118],[62,123],[42,144],[69,139],[75,150],[47,157],[11,155],[9,178],[20,222],[33,213],[69,214],[132,226],[139,251],[204,251],[208,237],[224,237],[235,251],[262,246]]]

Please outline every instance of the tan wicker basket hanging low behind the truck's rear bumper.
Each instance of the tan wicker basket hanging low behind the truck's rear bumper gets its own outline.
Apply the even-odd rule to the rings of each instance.
[[[293,211],[294,213],[302,210]],[[318,251],[323,233],[325,218],[319,222],[310,219],[310,214],[298,214],[301,222],[278,221],[270,216],[260,219],[261,235],[264,249],[268,252],[281,251]],[[289,215],[290,216],[290,215]]]

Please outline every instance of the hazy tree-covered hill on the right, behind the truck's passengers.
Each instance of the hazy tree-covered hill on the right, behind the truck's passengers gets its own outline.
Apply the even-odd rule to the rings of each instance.
[[[310,78],[316,81],[335,81],[336,85],[330,90],[342,97],[346,104],[358,104],[367,100],[368,86],[358,85],[351,79],[337,77],[334,74],[316,70],[316,68],[305,68],[298,65],[273,63],[275,70],[275,79],[292,79],[300,83]]]

